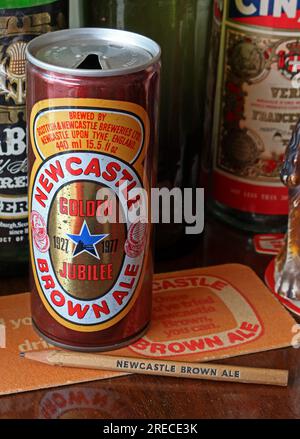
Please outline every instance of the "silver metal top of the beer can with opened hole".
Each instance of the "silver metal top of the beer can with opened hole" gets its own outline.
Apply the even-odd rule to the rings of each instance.
[[[43,34],[27,46],[27,60],[43,70],[74,76],[117,76],[160,59],[150,38],[116,29],[81,28]]]

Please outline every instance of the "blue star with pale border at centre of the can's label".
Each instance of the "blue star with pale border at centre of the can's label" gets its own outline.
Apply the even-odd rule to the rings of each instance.
[[[89,253],[94,256],[94,258],[100,259],[98,251],[96,249],[96,244],[100,241],[103,241],[108,234],[103,235],[91,235],[90,229],[86,223],[83,222],[79,235],[70,235],[67,236],[76,244],[76,247],[73,252],[73,257],[79,256],[81,253]]]

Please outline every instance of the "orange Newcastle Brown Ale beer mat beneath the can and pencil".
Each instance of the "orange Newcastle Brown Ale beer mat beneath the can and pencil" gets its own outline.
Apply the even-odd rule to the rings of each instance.
[[[133,311],[130,322],[134,322]],[[279,324],[280,322],[280,324]],[[32,329],[29,293],[0,297],[0,394],[116,377],[116,372],[53,367],[20,358],[52,348]],[[256,274],[238,264],[157,274],[145,336],[111,355],[212,361],[290,346],[295,321]],[[124,375],[124,374],[123,374]]]

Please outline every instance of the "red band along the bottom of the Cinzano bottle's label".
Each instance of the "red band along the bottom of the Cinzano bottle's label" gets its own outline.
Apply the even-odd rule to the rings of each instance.
[[[219,203],[244,212],[288,214],[288,191],[284,186],[249,184],[215,172],[213,196]]]

